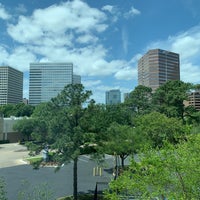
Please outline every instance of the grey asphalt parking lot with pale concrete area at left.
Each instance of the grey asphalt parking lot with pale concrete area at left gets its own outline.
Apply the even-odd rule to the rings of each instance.
[[[0,177],[5,179],[8,200],[17,200],[19,192],[25,189],[26,193],[29,193],[42,184],[47,184],[48,190],[53,193],[52,200],[72,195],[72,163],[62,167],[57,173],[54,172],[54,167],[33,170],[32,166],[22,161],[27,155],[26,148],[21,145],[0,145]],[[102,176],[93,176],[93,168],[97,164],[88,156],[81,156],[78,162],[78,191],[94,192],[96,182],[108,182],[112,178],[108,170],[112,165],[113,158],[107,157]]]

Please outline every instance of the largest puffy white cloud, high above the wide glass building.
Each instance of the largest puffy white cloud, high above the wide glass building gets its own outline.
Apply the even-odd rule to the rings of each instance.
[[[16,25],[8,26],[8,33],[19,43],[38,44],[44,38],[54,40],[72,33],[102,32],[107,28],[105,20],[103,12],[75,0],[37,9],[30,17],[20,16]]]

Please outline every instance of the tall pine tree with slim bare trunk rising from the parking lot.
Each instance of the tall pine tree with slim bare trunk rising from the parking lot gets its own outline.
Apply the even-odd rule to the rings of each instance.
[[[81,127],[81,119],[84,116],[85,108],[91,91],[85,91],[81,84],[70,84],[53,98],[48,104],[43,104],[41,109],[36,108],[34,118],[47,122],[46,143],[54,151],[54,159],[61,166],[64,163],[73,161],[73,195],[77,200],[77,163],[78,157],[84,152],[84,145],[89,143],[90,137]],[[45,113],[47,115],[45,115]],[[37,116],[39,114],[39,116]],[[35,138],[36,140],[38,139]]]

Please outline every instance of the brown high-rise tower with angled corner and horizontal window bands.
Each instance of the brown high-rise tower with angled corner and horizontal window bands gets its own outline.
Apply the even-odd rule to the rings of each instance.
[[[149,50],[138,62],[138,84],[155,91],[168,80],[180,80],[179,54]]]

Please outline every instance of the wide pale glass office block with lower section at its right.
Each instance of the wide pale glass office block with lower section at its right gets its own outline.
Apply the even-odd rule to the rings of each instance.
[[[29,104],[50,101],[72,83],[81,83],[80,76],[73,74],[72,63],[31,63]]]

